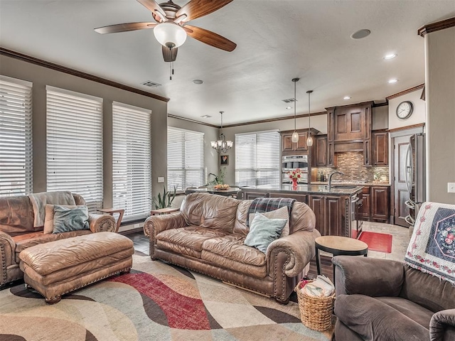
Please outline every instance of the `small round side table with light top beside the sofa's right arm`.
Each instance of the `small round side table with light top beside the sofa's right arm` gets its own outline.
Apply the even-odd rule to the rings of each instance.
[[[353,238],[339,236],[323,236],[315,239],[316,269],[321,274],[321,259],[319,250],[326,251],[333,256],[367,256],[368,244]],[[335,266],[333,266],[333,284],[335,284]]]

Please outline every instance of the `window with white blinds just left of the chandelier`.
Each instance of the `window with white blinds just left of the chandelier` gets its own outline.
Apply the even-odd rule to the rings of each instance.
[[[168,189],[205,184],[204,134],[168,127]]]

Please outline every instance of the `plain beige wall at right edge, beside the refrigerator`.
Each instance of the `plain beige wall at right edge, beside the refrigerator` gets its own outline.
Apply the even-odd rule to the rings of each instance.
[[[455,204],[455,27],[427,33],[427,200]]]

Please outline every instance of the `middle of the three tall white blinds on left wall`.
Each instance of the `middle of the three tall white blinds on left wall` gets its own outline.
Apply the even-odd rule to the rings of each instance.
[[[46,87],[48,191],[70,190],[102,207],[102,99]]]

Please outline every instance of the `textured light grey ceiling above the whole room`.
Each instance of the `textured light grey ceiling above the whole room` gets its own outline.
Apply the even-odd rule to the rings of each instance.
[[[176,0],[183,6],[186,1]],[[225,52],[188,38],[169,80],[153,31],[100,35],[93,28],[153,21],[136,0],[0,0],[0,45],[170,98],[168,113],[219,124],[375,100],[424,82],[424,39],[417,29],[455,16],[455,1],[234,0],[191,25],[237,43]],[[368,28],[370,36],[350,35]],[[386,53],[397,58],[384,60]],[[388,85],[387,80],[399,82]],[[192,80],[203,80],[194,85]],[[151,80],[162,86],[141,85]],[[349,100],[343,97],[349,95]],[[201,116],[208,114],[210,119]]]

